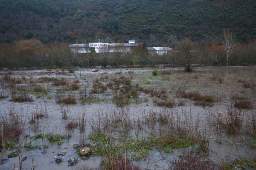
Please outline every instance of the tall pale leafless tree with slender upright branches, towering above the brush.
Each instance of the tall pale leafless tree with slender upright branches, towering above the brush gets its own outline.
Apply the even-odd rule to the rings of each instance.
[[[230,32],[229,30],[223,30],[222,33],[222,42],[224,45],[224,50],[226,53],[226,65],[228,65],[228,59],[230,58],[230,55],[234,52],[234,36],[232,34],[232,32]]]

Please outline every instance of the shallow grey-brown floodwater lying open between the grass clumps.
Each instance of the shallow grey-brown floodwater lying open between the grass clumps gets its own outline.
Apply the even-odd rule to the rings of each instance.
[[[193,73],[184,73],[180,68],[155,68],[159,71],[168,70],[172,71],[172,74],[169,75],[158,75],[152,76],[152,71],[154,68],[133,68],[133,69],[99,69],[97,72],[93,72],[94,69],[79,69],[75,73],[66,74],[56,74],[53,71],[46,70],[32,70],[32,71],[11,71],[10,75],[12,78],[16,79],[26,79],[26,82],[29,80],[38,79],[40,77],[54,77],[54,78],[64,78],[69,82],[73,80],[79,80],[80,87],[87,86],[88,89],[92,88],[93,79],[106,77],[108,80],[113,77],[130,77],[132,79],[132,85],[139,83],[143,87],[152,87],[156,89],[164,88],[167,91],[168,98],[174,99],[176,103],[180,100],[184,102],[183,106],[175,106],[174,108],[165,108],[160,106],[155,106],[153,100],[148,94],[140,94],[140,99],[142,102],[139,104],[130,104],[125,106],[125,110],[129,115],[131,122],[134,122],[138,119],[143,119],[143,115],[149,113],[160,113],[160,112],[172,112],[175,115],[185,116],[189,115],[188,118],[193,122],[199,122],[199,128],[211,129],[209,126],[209,115],[217,115],[227,112],[227,107],[234,108],[232,105],[232,100],[230,97],[234,94],[241,94],[247,96],[253,103],[252,109],[243,109],[241,110],[244,113],[244,124],[241,128],[241,133],[239,135],[228,136],[225,130],[222,130],[220,133],[222,143],[217,143],[215,131],[211,129],[210,136],[210,152],[209,159],[214,161],[217,164],[221,164],[226,160],[233,160],[236,158],[246,158],[246,157],[255,157],[256,150],[252,149],[249,145],[244,145],[244,141],[250,143],[252,138],[248,135],[246,128],[246,120],[248,115],[256,114],[256,94],[253,94],[252,91],[248,88],[242,88],[242,84],[238,82],[239,79],[245,79],[247,81],[255,81],[256,79],[256,66],[250,67],[204,67],[197,68]],[[9,75],[10,71],[0,71],[1,79],[5,75]],[[218,80],[213,81],[211,79],[212,75],[216,74],[224,78],[223,83],[218,83]],[[107,80],[107,81],[108,81]],[[17,86],[27,86],[29,87],[31,83],[17,84]],[[54,99],[54,92],[59,87],[52,86],[52,83],[37,83],[41,85],[47,85],[51,89],[49,93],[52,98],[50,99],[47,96],[42,96],[37,98],[33,94],[29,94],[33,102],[11,102],[11,90],[8,88],[7,84],[2,82],[0,93],[8,95],[9,98],[0,99],[0,116],[6,116],[9,118],[10,111],[15,111],[20,115],[23,115],[24,133],[26,135],[34,135],[37,133],[53,133],[53,134],[63,134],[67,133],[65,127],[69,120],[64,120],[61,118],[60,107],[63,104],[56,104]],[[176,91],[179,87],[186,88],[186,91],[199,91],[200,94],[212,94],[215,96],[223,95],[223,100],[221,102],[215,102],[212,107],[203,107],[194,105],[194,101],[191,99],[184,99],[176,96]],[[105,99],[104,102],[96,102],[89,104],[82,104],[79,100],[79,91],[67,92],[74,94],[77,97],[77,104],[68,105],[70,108],[70,119],[76,115],[81,115],[85,112],[86,115],[86,130],[84,136],[87,137],[92,133],[91,122],[93,119],[96,119],[96,115],[101,113],[102,117],[111,113],[115,109],[119,109],[113,102],[111,91],[108,90],[104,94],[100,94],[100,99]],[[49,96],[48,95],[48,96]],[[28,115],[33,111],[47,110],[48,116],[44,116],[41,119],[40,127],[37,132],[34,131],[32,125],[29,124]],[[235,108],[234,108],[235,109]],[[208,116],[207,116],[208,115]],[[224,119],[224,117],[222,117]],[[195,124],[194,124],[195,125]],[[155,127],[155,130],[159,130],[160,127]],[[144,134],[143,134],[144,133]],[[140,133],[140,137],[146,137],[150,133],[150,130],[145,130]],[[132,132],[135,135],[135,132]],[[33,164],[36,166],[36,170],[70,170],[77,169],[82,165],[87,165],[90,168],[99,169],[100,167],[100,156],[91,156],[86,160],[80,160],[75,166],[68,167],[67,160],[71,157],[79,159],[79,156],[76,154],[76,149],[73,149],[73,144],[79,143],[81,133],[78,128],[75,128],[72,132],[72,137],[67,141],[65,140],[61,146],[57,144],[47,143],[46,148],[37,149],[33,151],[23,152],[23,157],[27,156],[26,161],[23,161],[23,169],[30,170],[32,167],[32,159],[34,160]],[[89,142],[89,141],[88,141]],[[34,144],[42,145],[41,139],[37,139]],[[3,159],[7,159],[7,155],[13,152],[14,149],[6,150],[3,153]],[[42,154],[42,151],[46,151],[45,154]],[[66,152],[65,156],[60,156],[64,159],[60,164],[55,163],[55,157],[58,152]],[[163,153],[156,149],[151,150],[149,156],[141,161],[133,161],[133,164],[139,165],[142,169],[169,169],[168,164],[166,163],[172,161],[176,158],[182,150],[175,149],[173,153]],[[165,159],[163,159],[163,157]],[[4,164],[0,164],[1,170],[12,170],[13,168],[19,167],[18,157],[9,158]]]

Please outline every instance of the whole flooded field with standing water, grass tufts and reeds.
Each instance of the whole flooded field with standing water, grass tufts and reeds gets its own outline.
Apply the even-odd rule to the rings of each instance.
[[[0,170],[256,168],[256,66],[0,71],[0,83]]]

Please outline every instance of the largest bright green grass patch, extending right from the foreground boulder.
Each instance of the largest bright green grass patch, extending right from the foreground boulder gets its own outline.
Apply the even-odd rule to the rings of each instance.
[[[93,148],[93,154],[96,156],[121,155],[125,152],[131,152],[137,161],[145,159],[153,147],[160,148],[169,153],[173,149],[189,147],[195,144],[193,141],[179,139],[176,136],[170,135],[150,136],[148,139],[142,140],[124,140],[122,138],[111,138],[106,134],[100,133],[98,135],[90,135],[88,139],[97,143]]]

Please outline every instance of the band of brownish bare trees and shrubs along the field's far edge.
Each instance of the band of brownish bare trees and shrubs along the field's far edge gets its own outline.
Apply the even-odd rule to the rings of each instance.
[[[43,45],[36,39],[19,40],[12,44],[0,44],[0,69],[182,66],[186,71],[192,71],[198,65],[256,64],[256,40],[231,45],[228,44],[230,41],[233,40],[227,41],[223,37],[221,45],[212,40],[198,46],[185,38],[177,42],[171,52],[158,56],[148,51],[143,43],[129,53],[81,54],[70,52],[69,45],[63,42]]]

